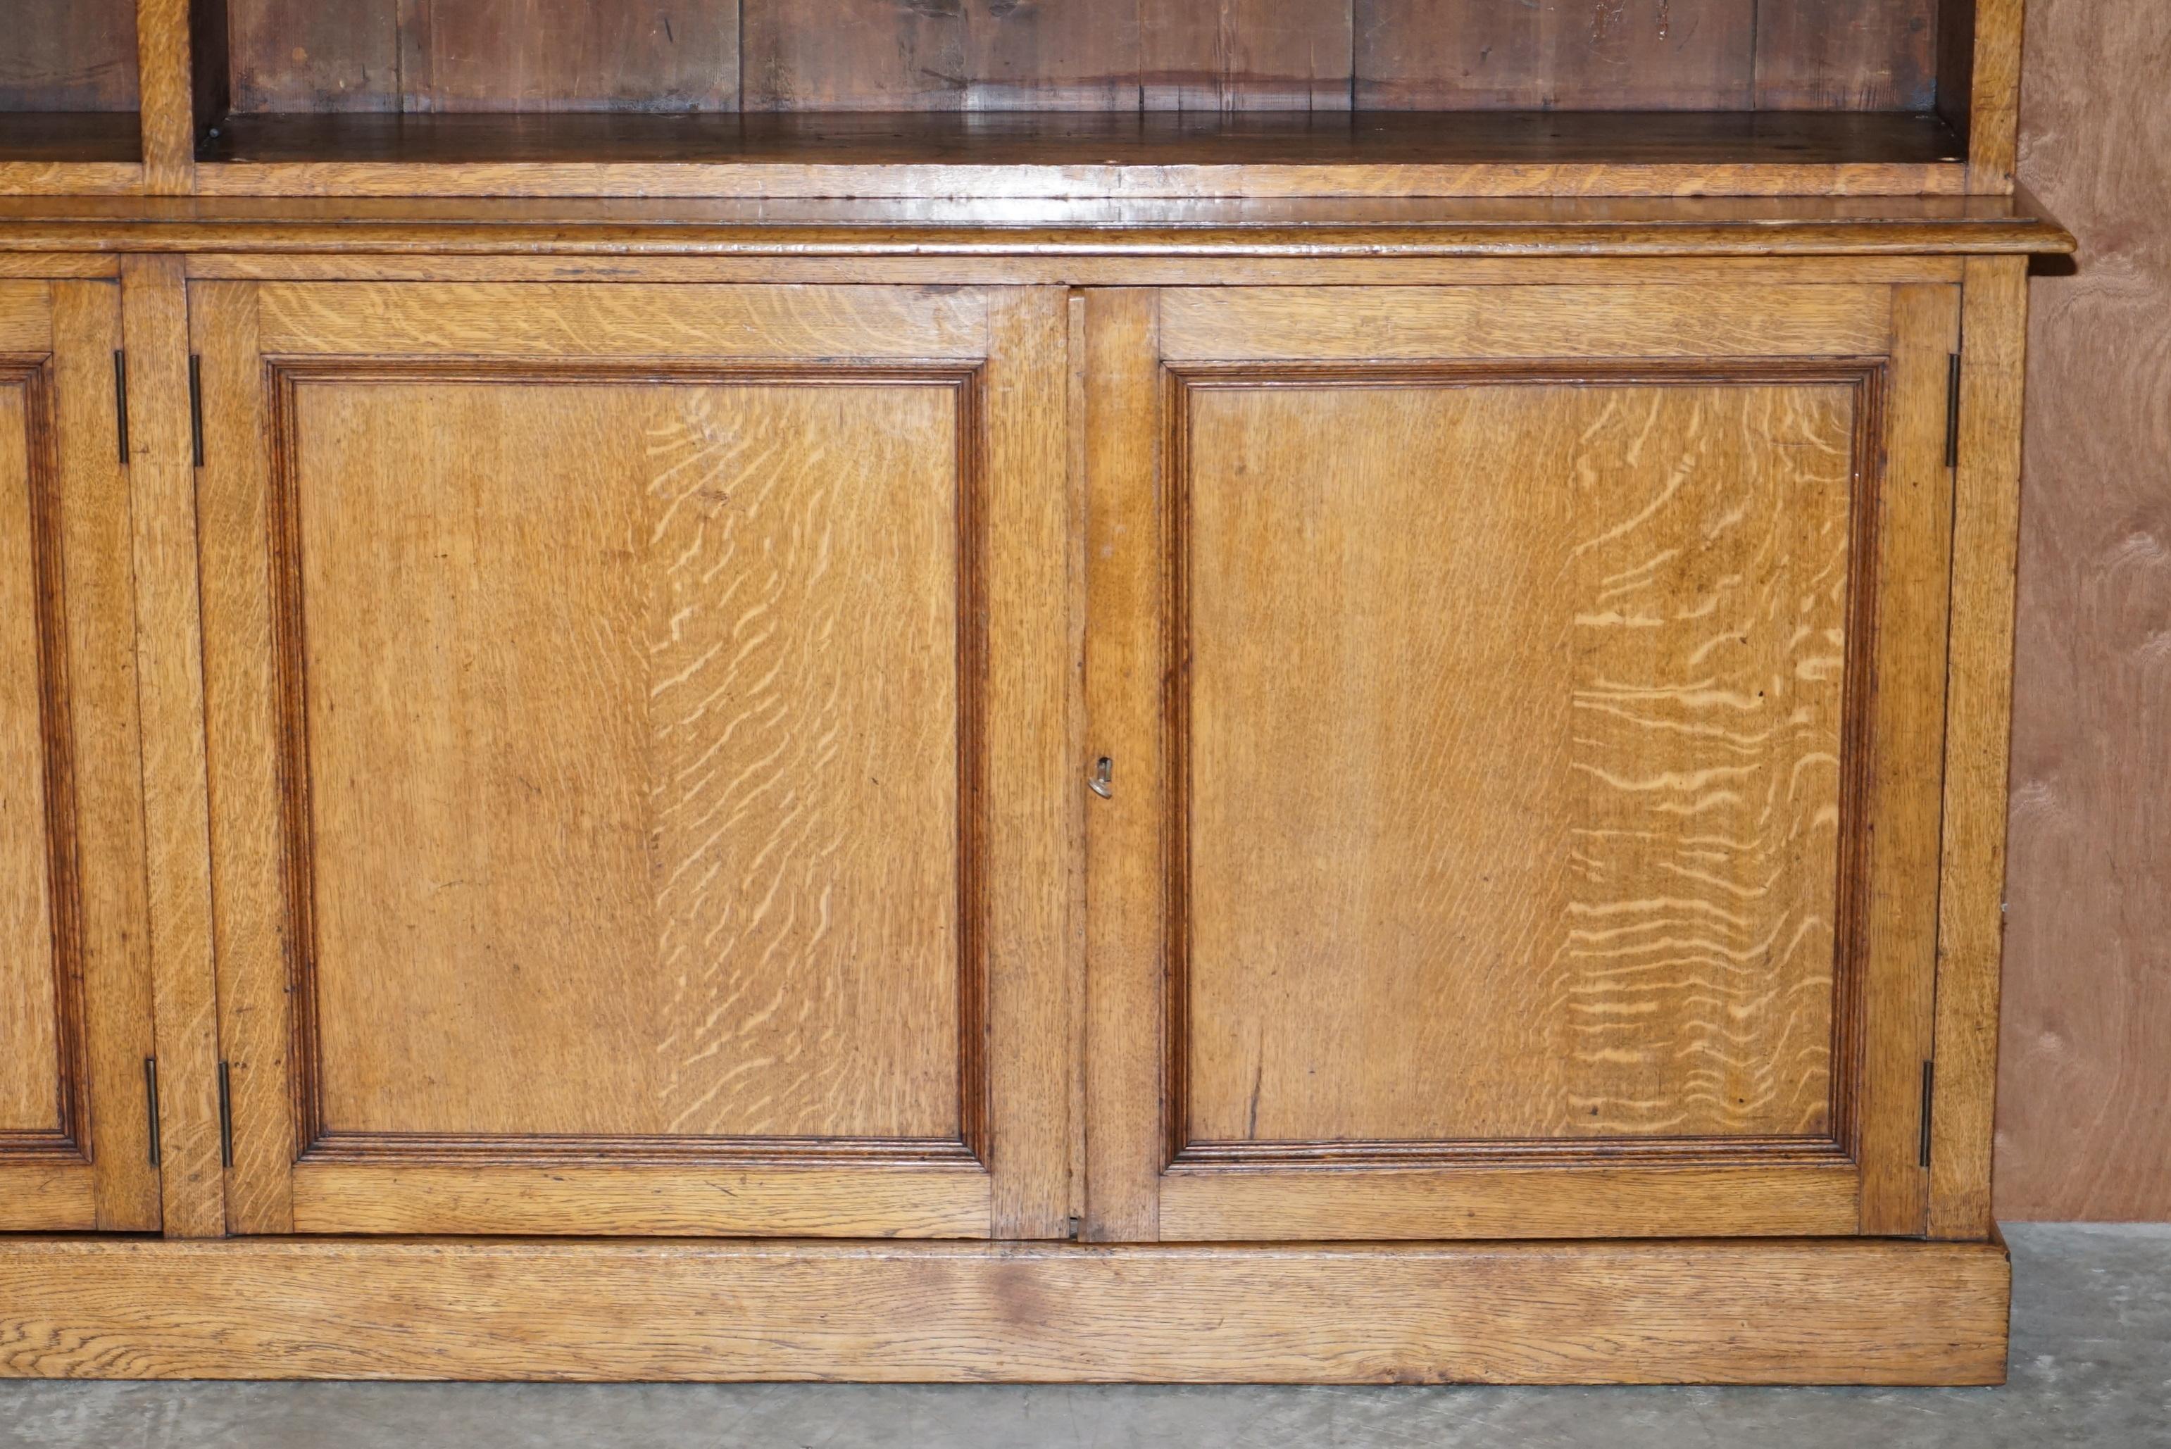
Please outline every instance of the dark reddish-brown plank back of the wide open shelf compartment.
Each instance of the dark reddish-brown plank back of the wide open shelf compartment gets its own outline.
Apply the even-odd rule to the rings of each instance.
[[[1939,0],[224,4],[245,113],[1926,111],[1939,35]]]

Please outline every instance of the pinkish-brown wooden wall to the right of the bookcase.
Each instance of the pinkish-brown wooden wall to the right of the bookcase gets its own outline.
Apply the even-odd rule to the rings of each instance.
[[[2171,4],[2030,0],[2034,282],[1997,1210],[2171,1219]]]

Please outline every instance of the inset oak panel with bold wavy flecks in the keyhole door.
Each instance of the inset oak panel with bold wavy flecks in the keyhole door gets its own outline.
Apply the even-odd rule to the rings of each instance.
[[[1179,1145],[1828,1141],[1874,399],[1190,382]]]

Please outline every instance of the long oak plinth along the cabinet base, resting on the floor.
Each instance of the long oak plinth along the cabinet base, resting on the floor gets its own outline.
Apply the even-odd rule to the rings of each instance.
[[[1999,1384],[1999,1243],[0,1239],[0,1375]]]

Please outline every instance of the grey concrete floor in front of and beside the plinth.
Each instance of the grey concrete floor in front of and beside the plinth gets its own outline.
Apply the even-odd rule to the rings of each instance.
[[[2006,1388],[0,1384],[98,1449],[2171,1447],[2171,1226],[2015,1226]]]

